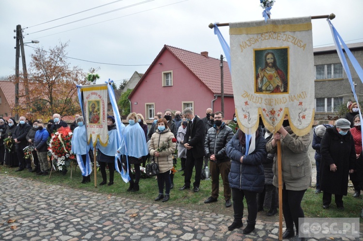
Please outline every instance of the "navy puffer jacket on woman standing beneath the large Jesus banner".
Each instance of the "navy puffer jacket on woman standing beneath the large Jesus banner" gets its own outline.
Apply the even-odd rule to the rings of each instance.
[[[256,137],[255,151],[245,156],[246,147],[242,146],[236,135],[227,144],[227,156],[231,159],[231,169],[228,175],[229,186],[240,190],[262,192],[265,184],[262,162],[267,157],[266,140],[259,128]],[[244,134],[242,134],[244,135]],[[243,163],[240,162],[243,156]]]

